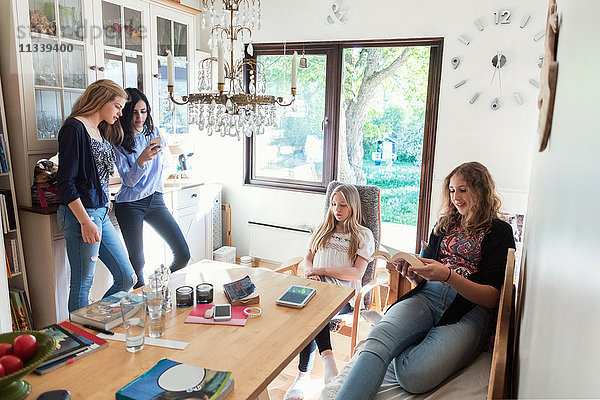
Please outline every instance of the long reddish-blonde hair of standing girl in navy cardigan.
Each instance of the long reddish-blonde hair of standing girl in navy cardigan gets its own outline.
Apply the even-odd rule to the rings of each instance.
[[[87,117],[99,111],[104,105],[117,98],[127,100],[127,93],[123,88],[110,79],[99,79],[85,89],[85,92],[75,101],[71,115],[73,117]],[[120,143],[123,140],[123,128],[119,121],[114,124],[108,124],[101,121],[98,125],[100,134],[110,143]]]

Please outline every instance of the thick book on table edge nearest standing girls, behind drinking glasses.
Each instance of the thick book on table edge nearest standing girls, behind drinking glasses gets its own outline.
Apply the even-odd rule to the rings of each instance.
[[[69,319],[78,324],[90,325],[108,331],[123,323],[121,305],[119,302],[125,295],[133,297],[136,303],[127,306],[128,308],[125,316],[133,315],[136,312],[136,308],[142,306],[144,300],[140,295],[121,291],[90,305],[71,311],[69,313]]]

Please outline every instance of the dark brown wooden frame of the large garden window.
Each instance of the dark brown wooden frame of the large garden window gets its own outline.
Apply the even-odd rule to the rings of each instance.
[[[421,163],[421,185],[419,189],[419,209],[417,219],[417,242],[415,251],[419,251],[421,240],[428,239],[429,216],[431,208],[431,190],[433,186],[433,168],[435,142],[437,132],[440,82],[442,75],[442,56],[444,48],[443,37],[382,39],[382,40],[351,40],[324,42],[294,42],[286,43],[286,54],[297,51],[302,54],[322,54],[327,52],[326,85],[325,85],[325,118],[326,124],[323,137],[323,180],[320,184],[289,179],[256,177],[254,174],[253,154],[254,135],[244,139],[244,185],[265,187],[271,189],[294,190],[309,193],[325,193],[330,181],[337,178],[338,168],[338,139],[339,119],[342,93],[342,58],[346,48],[355,47],[410,47],[428,46],[429,80],[427,84],[427,99],[425,109],[425,125],[423,129],[423,153]],[[254,54],[247,58],[256,61],[257,55],[283,54],[284,43],[253,44]],[[329,56],[331,54],[331,58]],[[273,93],[274,95],[278,95]]]

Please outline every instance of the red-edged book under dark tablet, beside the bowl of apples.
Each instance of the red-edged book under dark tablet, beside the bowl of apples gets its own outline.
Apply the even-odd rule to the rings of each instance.
[[[54,336],[57,342],[57,350],[35,370],[39,375],[54,371],[108,346],[106,340],[68,321],[50,325],[42,331]],[[74,347],[75,344],[72,342],[81,342],[84,347],[76,348],[72,352],[63,351],[63,348]],[[61,346],[60,349],[58,349],[59,345]]]

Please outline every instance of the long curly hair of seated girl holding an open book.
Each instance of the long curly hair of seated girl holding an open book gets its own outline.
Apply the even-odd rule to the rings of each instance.
[[[458,175],[465,180],[473,193],[473,204],[468,215],[461,215],[450,197],[450,178]],[[443,201],[440,218],[435,234],[450,232],[452,227],[460,226],[467,235],[475,235],[480,230],[489,231],[492,221],[498,218],[501,202],[496,194],[496,185],[490,171],[481,163],[472,161],[454,168],[444,179]]]

